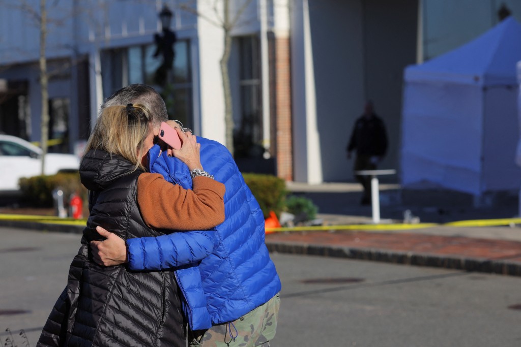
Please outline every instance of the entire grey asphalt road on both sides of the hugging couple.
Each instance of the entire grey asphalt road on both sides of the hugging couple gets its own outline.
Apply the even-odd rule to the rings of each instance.
[[[0,228],[0,344],[34,346],[79,235]],[[282,279],[272,346],[521,345],[521,278],[272,254]],[[6,329],[10,330],[6,331]],[[25,344],[27,345],[27,344]]]

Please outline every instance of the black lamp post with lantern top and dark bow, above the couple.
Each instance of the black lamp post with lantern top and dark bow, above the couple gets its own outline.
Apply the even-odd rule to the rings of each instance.
[[[157,68],[155,80],[157,84],[162,86],[165,86],[169,82],[167,77],[170,70],[172,70],[173,59],[175,58],[173,44],[176,43],[176,33],[170,30],[172,16],[173,12],[168,6],[163,5],[163,9],[159,12],[162,32],[154,35],[154,41],[156,42],[154,57],[157,58],[159,55],[163,56],[163,63]]]

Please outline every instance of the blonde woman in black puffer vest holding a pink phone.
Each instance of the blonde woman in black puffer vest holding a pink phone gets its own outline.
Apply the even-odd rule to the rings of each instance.
[[[68,285],[47,319],[39,346],[184,347],[184,320],[173,270],[133,272],[125,264],[105,267],[96,263],[88,247],[90,241],[101,239],[96,232],[100,225],[126,240],[160,237],[173,229],[208,229],[224,220],[224,185],[203,171],[195,136],[179,127],[176,131],[182,146],[172,153],[190,169],[191,190],[146,172],[154,134],[144,105],[102,110],[80,165],[81,182],[90,190],[90,216],[70,266]],[[211,252],[188,241],[185,249],[187,254],[180,255],[185,264]]]

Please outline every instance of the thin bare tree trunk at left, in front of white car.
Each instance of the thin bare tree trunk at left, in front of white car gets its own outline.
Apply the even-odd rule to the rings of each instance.
[[[40,88],[42,91],[42,120],[41,140],[42,147],[42,175],[45,172],[45,155],[47,154],[47,140],[49,137],[49,104],[47,90],[47,59],[45,57],[45,44],[47,39],[47,10],[45,0],[40,0]]]

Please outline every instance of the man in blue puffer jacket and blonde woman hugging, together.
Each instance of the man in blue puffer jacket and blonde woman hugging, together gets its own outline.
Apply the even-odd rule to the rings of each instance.
[[[152,88],[102,106],[80,165],[89,219],[38,346],[269,346],[280,279],[230,152],[168,121]],[[188,329],[185,327],[188,326]]]

